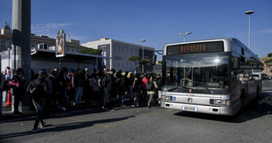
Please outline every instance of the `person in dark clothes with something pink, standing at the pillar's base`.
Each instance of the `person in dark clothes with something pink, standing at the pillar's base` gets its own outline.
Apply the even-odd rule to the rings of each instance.
[[[22,95],[24,94],[24,80],[26,79],[24,76],[24,70],[22,68],[17,68],[15,74],[13,75],[13,83],[16,85],[13,86],[13,96],[14,96],[14,111],[13,114],[19,115],[22,114],[19,112],[19,104],[22,101]]]

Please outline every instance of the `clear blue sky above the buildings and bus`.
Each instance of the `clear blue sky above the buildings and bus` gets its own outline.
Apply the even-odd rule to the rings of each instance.
[[[112,38],[163,50],[181,43],[178,33],[192,32],[186,41],[237,38],[266,57],[272,52],[271,0],[32,0],[31,33],[54,38],[59,29],[67,38],[86,43]],[[12,20],[12,0],[0,0],[0,25]],[[161,56],[158,57],[158,60]]]

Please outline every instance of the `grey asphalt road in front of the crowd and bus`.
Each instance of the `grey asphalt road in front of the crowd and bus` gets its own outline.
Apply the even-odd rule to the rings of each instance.
[[[272,80],[238,116],[160,107],[116,107],[59,113],[32,133],[33,117],[0,122],[0,142],[271,142]]]

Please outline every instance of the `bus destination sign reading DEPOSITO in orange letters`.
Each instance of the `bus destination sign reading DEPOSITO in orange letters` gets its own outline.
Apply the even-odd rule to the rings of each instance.
[[[190,44],[167,46],[167,55],[194,54],[194,53],[204,53],[204,52],[224,52],[223,41],[206,42],[206,43],[190,43]]]

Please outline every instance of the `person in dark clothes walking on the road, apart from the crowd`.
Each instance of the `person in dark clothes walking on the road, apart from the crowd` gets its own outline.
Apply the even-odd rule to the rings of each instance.
[[[38,79],[32,80],[27,87],[27,91],[30,93],[33,105],[36,108],[36,120],[34,123],[33,132],[37,132],[40,128],[45,126],[43,121],[43,111],[45,107],[46,100],[49,96],[49,86],[45,81],[46,73],[43,70],[38,72]],[[38,128],[38,123],[40,122],[40,128]]]

